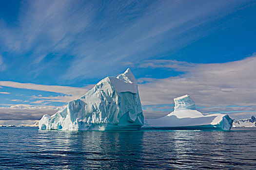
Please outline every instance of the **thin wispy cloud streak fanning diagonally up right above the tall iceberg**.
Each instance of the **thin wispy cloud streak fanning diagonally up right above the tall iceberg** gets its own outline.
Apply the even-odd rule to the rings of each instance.
[[[160,55],[158,50],[151,49],[158,49],[157,45],[166,40],[172,43],[161,46],[161,53],[185,46],[208,35],[210,29],[208,32],[200,32],[200,29],[196,31],[195,28],[205,22],[211,22],[211,19],[226,15],[227,13],[220,11],[223,8],[231,8],[229,3],[229,1],[211,4],[195,3],[191,6],[185,1],[156,1],[140,14],[138,19],[128,21],[124,24],[125,27],[117,28],[115,34],[109,34],[111,38],[94,39],[90,44],[84,42],[78,46],[74,53],[77,57],[62,78],[72,80],[79,77],[105,76],[105,70],[113,74],[121,67],[125,67],[118,64],[122,61],[129,59],[134,63]],[[197,5],[202,6],[197,8]],[[190,10],[184,10],[186,7]],[[119,8],[122,9],[122,6]],[[213,17],[216,12],[221,14]],[[209,16],[213,18],[206,20],[205,18]],[[188,33],[190,36],[184,36]],[[98,47],[104,49],[99,50]]]

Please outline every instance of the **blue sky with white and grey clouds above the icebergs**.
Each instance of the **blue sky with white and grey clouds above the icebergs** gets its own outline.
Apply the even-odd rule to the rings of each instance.
[[[0,121],[52,115],[127,68],[145,117],[185,94],[256,115],[256,1],[0,0]]]

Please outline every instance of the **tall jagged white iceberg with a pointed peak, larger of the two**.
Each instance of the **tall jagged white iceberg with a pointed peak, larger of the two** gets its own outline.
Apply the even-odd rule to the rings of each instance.
[[[39,120],[41,130],[133,130],[144,117],[138,85],[130,68],[106,77],[78,100]]]

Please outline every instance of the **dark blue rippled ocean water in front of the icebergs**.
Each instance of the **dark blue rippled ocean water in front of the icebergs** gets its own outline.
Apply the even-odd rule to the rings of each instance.
[[[0,128],[0,170],[256,169],[256,129],[64,132]]]

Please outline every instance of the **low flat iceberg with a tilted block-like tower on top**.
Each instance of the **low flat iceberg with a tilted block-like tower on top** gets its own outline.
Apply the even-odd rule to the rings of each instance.
[[[174,111],[158,119],[145,119],[142,128],[154,129],[219,129],[230,130],[233,119],[224,114],[204,116],[196,110],[195,102],[189,95],[174,99]]]

